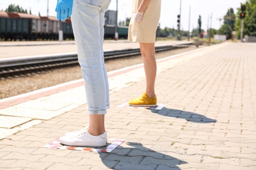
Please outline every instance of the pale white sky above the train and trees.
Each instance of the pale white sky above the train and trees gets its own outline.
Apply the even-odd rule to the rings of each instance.
[[[56,0],[49,1],[49,16],[55,16]],[[131,17],[131,3],[133,0],[118,0],[118,21],[124,21]],[[159,1],[159,0],[152,0]],[[110,10],[116,10],[117,0],[112,0]],[[236,14],[241,3],[246,0],[161,0],[160,27],[171,27],[177,29],[177,15],[181,9],[181,29],[187,31],[198,27],[198,18],[202,17],[202,29],[208,27],[219,29],[223,24],[223,18],[228,9],[233,8]],[[5,10],[10,4],[19,5],[32,14],[47,16],[47,0],[1,0],[0,10]],[[211,17],[212,16],[212,17]]]

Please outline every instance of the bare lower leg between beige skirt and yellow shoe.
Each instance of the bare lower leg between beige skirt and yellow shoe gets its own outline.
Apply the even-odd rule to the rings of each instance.
[[[140,42],[140,53],[144,62],[146,75],[146,94],[148,97],[154,97],[156,81],[155,44]]]

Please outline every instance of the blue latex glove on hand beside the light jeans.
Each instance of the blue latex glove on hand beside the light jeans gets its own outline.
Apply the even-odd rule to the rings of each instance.
[[[73,0],[58,0],[55,11],[57,19],[64,21],[72,14]]]

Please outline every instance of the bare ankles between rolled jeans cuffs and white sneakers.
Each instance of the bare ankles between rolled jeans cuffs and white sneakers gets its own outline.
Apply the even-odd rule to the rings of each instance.
[[[101,135],[105,131],[104,126],[105,114],[89,114],[88,132],[91,135]]]

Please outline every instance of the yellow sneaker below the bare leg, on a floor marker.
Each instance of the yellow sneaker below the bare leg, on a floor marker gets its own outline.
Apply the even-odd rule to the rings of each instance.
[[[152,98],[148,97],[146,93],[143,93],[141,97],[137,99],[131,99],[129,105],[140,106],[140,107],[155,107],[156,106],[156,95]]]

